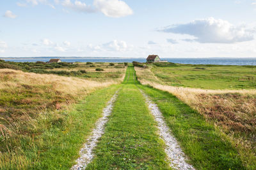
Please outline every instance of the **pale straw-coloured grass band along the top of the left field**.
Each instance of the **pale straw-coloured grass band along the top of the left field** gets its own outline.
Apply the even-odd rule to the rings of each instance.
[[[25,73],[13,69],[0,69],[0,89],[15,89],[20,84],[27,85],[52,85],[53,89],[64,92],[65,94],[77,94],[81,90],[90,92],[90,89],[97,87],[106,87],[118,83],[108,81],[99,83],[98,81],[89,81],[80,78],[57,76],[54,74],[36,74]],[[122,81],[120,79],[119,83]]]

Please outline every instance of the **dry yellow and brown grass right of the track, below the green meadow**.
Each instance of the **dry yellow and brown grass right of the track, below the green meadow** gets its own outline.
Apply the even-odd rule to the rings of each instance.
[[[170,92],[214,122],[241,154],[256,163],[256,90],[204,90],[164,85],[149,69],[136,67],[143,85]]]

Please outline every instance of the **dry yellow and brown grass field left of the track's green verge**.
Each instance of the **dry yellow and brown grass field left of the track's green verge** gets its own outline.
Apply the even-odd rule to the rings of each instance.
[[[52,122],[61,120],[60,110],[67,109],[69,104],[123,79],[124,75],[115,81],[99,82],[0,69],[0,152],[16,150],[21,138],[34,138]],[[42,118],[45,127],[38,123]]]

